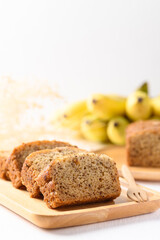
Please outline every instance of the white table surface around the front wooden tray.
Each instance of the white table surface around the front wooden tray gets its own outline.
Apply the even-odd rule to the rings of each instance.
[[[158,182],[139,182],[160,191]],[[45,230],[0,206],[0,239],[160,239],[160,209],[154,213],[85,226]]]

